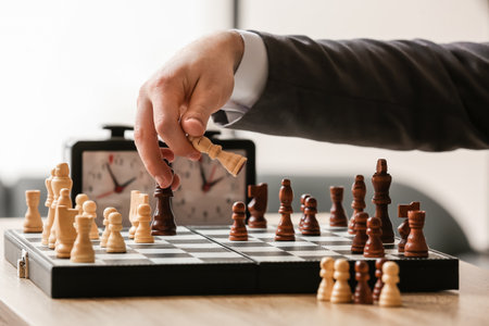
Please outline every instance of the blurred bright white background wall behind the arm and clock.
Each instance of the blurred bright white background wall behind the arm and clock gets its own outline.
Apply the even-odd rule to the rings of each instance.
[[[105,136],[104,123],[133,124],[138,89],[158,67],[192,39],[234,26],[331,39],[488,41],[489,2],[1,0],[0,180],[43,178],[67,138]],[[237,135],[255,140],[259,175],[369,176],[386,158],[394,183],[428,193],[474,249],[489,249],[488,151],[394,152]]]

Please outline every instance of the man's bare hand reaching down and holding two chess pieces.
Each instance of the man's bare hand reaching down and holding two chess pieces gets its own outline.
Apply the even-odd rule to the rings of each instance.
[[[211,114],[230,98],[243,48],[236,32],[203,37],[180,50],[142,85],[135,142],[146,168],[160,187],[176,189],[179,184],[178,176],[174,177],[163,162],[163,154],[200,159],[200,152],[186,135],[202,136]],[[173,153],[160,150],[158,136]]]

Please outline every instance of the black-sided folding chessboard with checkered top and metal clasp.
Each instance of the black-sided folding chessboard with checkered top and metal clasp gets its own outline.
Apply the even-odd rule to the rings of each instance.
[[[178,227],[176,236],[158,236],[148,244],[134,243],[123,231],[127,253],[105,253],[93,241],[96,262],[79,264],[57,259],[41,246],[40,234],[8,230],[4,254],[16,265],[21,251],[27,251],[29,278],[52,298],[312,293],[324,256],[349,260],[352,286],[354,262],[366,260],[375,283],[375,259],[351,253],[346,228],[324,228],[317,237],[296,234],[296,241],[274,241],[274,227],[248,231],[249,240],[239,242],[228,240],[229,226]],[[385,250],[400,266],[402,291],[459,288],[456,258],[430,250],[428,258],[408,259],[396,243]]]

